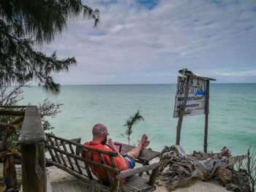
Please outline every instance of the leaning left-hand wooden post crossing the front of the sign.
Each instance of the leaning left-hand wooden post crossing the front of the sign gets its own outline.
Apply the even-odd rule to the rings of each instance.
[[[177,131],[176,131],[176,145],[180,145],[180,139],[181,139],[181,125],[184,117],[184,111],[186,109],[186,104],[187,104],[187,97],[189,95],[189,81],[190,77],[187,76],[187,83],[186,83],[186,88],[185,88],[185,93],[184,93],[184,100],[182,101],[180,110],[179,110],[179,115],[178,115],[178,125],[177,125]]]

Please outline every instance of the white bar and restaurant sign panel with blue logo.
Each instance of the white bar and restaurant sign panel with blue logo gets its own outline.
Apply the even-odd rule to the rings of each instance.
[[[184,93],[187,80],[184,77],[177,77],[177,91],[173,118],[178,118],[180,107],[184,101]],[[190,77],[189,94],[184,110],[184,116],[205,114],[206,104],[206,80]]]

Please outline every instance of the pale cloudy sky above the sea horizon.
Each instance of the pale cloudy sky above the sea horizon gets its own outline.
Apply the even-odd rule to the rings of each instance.
[[[75,56],[55,74],[69,84],[176,83],[179,69],[222,82],[256,82],[255,0],[89,0],[98,28],[78,19],[45,53]]]

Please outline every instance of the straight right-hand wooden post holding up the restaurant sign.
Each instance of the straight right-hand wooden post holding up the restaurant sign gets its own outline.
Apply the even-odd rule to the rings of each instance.
[[[204,134],[204,142],[203,142],[203,152],[207,153],[207,145],[208,145],[208,113],[209,113],[209,95],[210,95],[210,80],[206,80],[206,117],[205,117],[205,134]]]

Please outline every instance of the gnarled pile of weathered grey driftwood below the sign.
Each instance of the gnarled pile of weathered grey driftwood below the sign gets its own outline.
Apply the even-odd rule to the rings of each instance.
[[[211,180],[219,174],[219,170],[241,163],[246,155],[231,157],[226,147],[220,153],[194,152],[187,155],[180,145],[173,145],[165,146],[160,158],[159,180],[165,181],[169,191],[173,191],[178,185],[186,185],[192,178]]]

